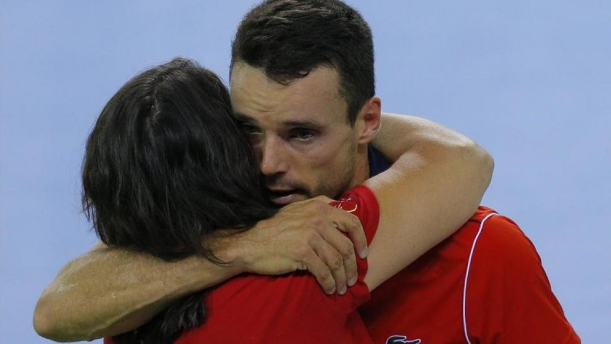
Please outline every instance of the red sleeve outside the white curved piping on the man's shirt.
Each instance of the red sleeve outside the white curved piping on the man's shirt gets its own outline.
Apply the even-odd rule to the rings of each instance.
[[[469,335],[482,343],[580,343],[518,225],[496,215],[481,228],[467,280]]]

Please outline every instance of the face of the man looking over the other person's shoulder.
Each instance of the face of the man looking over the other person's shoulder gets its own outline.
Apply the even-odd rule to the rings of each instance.
[[[357,135],[338,85],[328,67],[284,85],[245,63],[233,66],[233,111],[274,203],[335,197],[354,184]]]

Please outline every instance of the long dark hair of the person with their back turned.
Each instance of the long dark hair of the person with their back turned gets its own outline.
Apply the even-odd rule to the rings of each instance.
[[[275,209],[214,73],[176,58],[128,81],[102,110],[82,167],[82,206],[100,239],[166,260],[201,255],[217,229],[246,230]],[[205,320],[185,297],[119,343],[171,343]]]

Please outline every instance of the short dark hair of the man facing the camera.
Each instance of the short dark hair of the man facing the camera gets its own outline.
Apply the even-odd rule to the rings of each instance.
[[[283,84],[317,67],[335,69],[351,125],[375,95],[371,29],[357,10],[339,0],[263,1],[238,26],[232,69],[238,62]]]

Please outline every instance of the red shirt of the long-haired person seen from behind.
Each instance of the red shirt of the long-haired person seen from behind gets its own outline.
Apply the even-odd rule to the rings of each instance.
[[[332,204],[361,220],[367,241],[378,228],[378,201],[357,186]],[[367,212],[367,216],[365,216]],[[208,316],[186,331],[187,343],[372,343],[357,307],[369,299],[367,261],[357,257],[358,279],[343,296],[326,295],[308,272],[282,276],[244,274],[212,288]],[[108,338],[104,343],[112,343]]]

